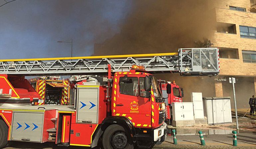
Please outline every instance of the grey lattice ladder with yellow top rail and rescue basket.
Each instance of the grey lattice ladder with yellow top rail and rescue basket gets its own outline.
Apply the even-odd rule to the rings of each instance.
[[[179,49],[178,53],[0,60],[0,74],[103,75],[108,71],[108,64],[113,72],[129,71],[133,65],[139,65],[152,74],[215,76],[219,73],[219,51],[192,48]]]

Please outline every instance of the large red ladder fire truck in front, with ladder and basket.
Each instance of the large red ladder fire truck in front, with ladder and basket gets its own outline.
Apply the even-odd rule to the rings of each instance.
[[[213,57],[207,63],[211,67],[197,61],[204,58],[195,57],[201,52]],[[165,140],[167,132],[164,98],[153,74],[217,75],[217,52],[216,48],[205,48],[179,49],[179,53],[0,60],[0,147],[8,141],[88,147],[102,141],[104,149],[153,147]],[[192,55],[192,60],[199,62],[195,71]],[[74,106],[30,105],[41,97],[25,75],[64,74],[102,77],[101,81],[74,85]]]

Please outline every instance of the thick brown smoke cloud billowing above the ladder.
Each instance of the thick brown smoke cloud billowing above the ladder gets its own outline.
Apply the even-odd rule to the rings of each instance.
[[[134,0],[121,32],[95,44],[94,55],[176,52],[211,35],[207,0]]]

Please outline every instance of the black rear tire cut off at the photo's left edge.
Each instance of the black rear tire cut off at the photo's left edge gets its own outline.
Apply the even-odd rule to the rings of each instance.
[[[6,147],[8,143],[8,126],[3,120],[0,120],[0,148]]]

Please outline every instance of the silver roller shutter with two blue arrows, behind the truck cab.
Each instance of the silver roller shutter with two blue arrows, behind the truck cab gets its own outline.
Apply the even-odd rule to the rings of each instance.
[[[77,89],[77,123],[98,123],[98,90]]]

